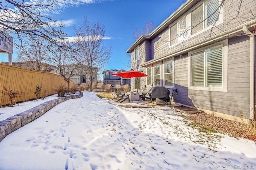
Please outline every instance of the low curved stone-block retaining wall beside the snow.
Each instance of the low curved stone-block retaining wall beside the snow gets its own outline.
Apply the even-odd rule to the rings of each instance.
[[[83,93],[80,91],[78,95],[70,95],[67,97],[60,97],[58,99],[54,99],[51,101],[46,101],[32,109],[24,111],[22,113],[18,113],[12,117],[4,121],[0,121],[0,141],[5,138],[11,132],[17,130],[20,127],[34,121],[38,117],[44,115],[48,110],[52,109],[54,106],[69,100],[69,99],[77,99],[83,96]]]

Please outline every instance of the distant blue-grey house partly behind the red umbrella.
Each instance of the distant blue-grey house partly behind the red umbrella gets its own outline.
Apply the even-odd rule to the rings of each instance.
[[[104,70],[102,72],[103,74],[103,83],[106,84],[111,84],[111,85],[116,85],[116,84],[120,84],[120,85],[130,85],[131,83],[131,79],[130,78],[122,78],[120,76],[117,75],[113,75],[113,73],[120,73],[125,71],[124,69],[110,69],[110,70]]]

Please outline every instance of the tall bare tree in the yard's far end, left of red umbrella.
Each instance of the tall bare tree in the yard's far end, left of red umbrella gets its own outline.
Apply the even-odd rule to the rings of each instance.
[[[102,69],[109,61],[111,47],[106,47],[103,43],[105,37],[105,26],[100,22],[91,23],[84,18],[84,22],[74,28],[77,36],[77,48],[82,56],[84,74],[90,81],[90,91],[92,91],[93,78],[97,76],[98,69]]]

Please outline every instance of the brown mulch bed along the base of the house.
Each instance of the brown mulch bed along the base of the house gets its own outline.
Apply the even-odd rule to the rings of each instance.
[[[209,115],[204,112],[186,113],[186,115],[182,115],[182,117],[192,120],[195,123],[198,123],[205,127],[215,129],[218,132],[226,133],[234,137],[250,139],[256,142],[255,137],[253,138],[248,136],[248,129],[250,129],[249,125],[236,121],[230,121],[228,119],[223,119],[214,115]]]

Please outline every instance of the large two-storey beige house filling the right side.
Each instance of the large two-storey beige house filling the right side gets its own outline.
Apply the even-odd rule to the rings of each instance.
[[[252,121],[255,8],[250,0],[184,2],[126,51],[132,62],[142,58],[140,70],[148,77],[140,86],[176,88],[176,103],[235,121],[241,121],[239,108]]]

